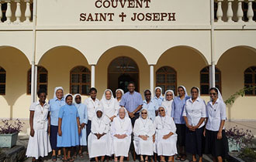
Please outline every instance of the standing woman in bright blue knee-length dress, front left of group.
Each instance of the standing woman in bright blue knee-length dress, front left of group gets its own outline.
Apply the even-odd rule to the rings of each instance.
[[[66,105],[61,106],[58,120],[58,136],[57,147],[63,148],[63,161],[74,161],[71,159],[71,147],[79,145],[79,135],[81,126],[79,122],[79,114],[73,103],[73,96],[67,94],[65,96]]]

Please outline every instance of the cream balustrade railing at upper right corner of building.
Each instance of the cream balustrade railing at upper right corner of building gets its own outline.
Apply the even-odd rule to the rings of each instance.
[[[216,22],[255,23],[255,0],[215,0]]]

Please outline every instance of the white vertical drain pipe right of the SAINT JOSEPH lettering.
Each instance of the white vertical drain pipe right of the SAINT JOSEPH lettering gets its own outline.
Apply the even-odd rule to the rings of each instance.
[[[211,3],[211,66],[209,68],[209,86],[215,87],[215,58],[214,58],[214,0]]]

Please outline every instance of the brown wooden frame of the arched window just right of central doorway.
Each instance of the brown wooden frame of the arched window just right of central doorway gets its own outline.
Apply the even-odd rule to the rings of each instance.
[[[164,67],[168,67],[168,68],[170,68],[170,69],[172,69],[173,71],[174,71],[174,73],[167,73],[167,72],[165,72],[165,73],[159,73],[158,71],[160,70],[160,69],[163,69]],[[174,69],[174,68],[172,68],[171,66],[161,66],[160,68],[158,68],[157,69],[157,71],[156,71],[156,86],[175,86],[175,89],[172,89],[174,92],[175,92],[175,94],[177,94],[177,71]],[[157,83],[157,74],[164,74],[164,83]],[[168,74],[175,74],[175,83],[168,83],[167,82],[167,75]],[[166,89],[165,89],[166,90]],[[164,89],[163,89],[163,91],[164,91]],[[163,93],[165,93],[165,92],[163,92]]]

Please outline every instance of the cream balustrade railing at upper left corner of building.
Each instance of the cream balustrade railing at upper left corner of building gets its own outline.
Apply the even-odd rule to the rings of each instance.
[[[31,0],[0,0],[0,25],[30,24],[32,7]]]

